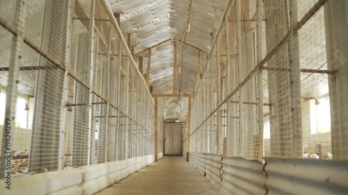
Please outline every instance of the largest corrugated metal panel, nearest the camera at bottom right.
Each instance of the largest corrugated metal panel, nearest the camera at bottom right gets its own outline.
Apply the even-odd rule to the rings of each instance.
[[[268,194],[347,194],[348,163],[265,158]]]

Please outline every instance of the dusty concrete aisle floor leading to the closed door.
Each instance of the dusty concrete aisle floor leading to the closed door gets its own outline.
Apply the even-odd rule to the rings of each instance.
[[[198,170],[177,156],[164,156],[159,162],[133,173],[95,195],[189,195],[221,194]]]

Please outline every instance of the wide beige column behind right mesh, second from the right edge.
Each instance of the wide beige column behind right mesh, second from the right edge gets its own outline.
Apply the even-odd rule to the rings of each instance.
[[[289,30],[289,15],[287,1],[264,1],[266,17],[267,51],[278,46],[277,40],[286,35]],[[285,42],[278,51],[267,61],[267,65],[289,67],[288,42]],[[285,71],[268,71],[269,122],[271,125],[271,156],[291,157],[293,150],[292,139],[282,136],[282,133],[291,133],[291,97],[290,74]],[[282,97],[282,98],[280,98]]]

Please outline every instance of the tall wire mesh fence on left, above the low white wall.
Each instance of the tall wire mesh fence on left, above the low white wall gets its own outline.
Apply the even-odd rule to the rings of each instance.
[[[0,8],[1,177],[154,154],[154,102],[105,1]]]

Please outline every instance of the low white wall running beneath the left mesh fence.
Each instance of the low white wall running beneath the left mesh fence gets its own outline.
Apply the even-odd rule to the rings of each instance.
[[[11,189],[0,180],[0,194],[93,194],[155,161],[146,155],[118,162],[11,178]]]

